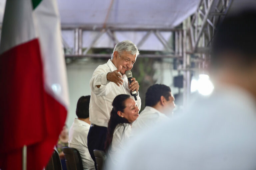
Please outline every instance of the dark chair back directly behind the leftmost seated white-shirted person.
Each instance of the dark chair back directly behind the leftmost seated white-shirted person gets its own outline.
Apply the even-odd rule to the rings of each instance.
[[[77,149],[71,147],[63,147],[63,153],[68,170],[83,170],[83,163],[80,153]]]

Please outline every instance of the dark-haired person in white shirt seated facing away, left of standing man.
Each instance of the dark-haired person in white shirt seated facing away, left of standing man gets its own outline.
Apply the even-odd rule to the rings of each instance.
[[[90,95],[79,98],[76,105],[76,116],[78,118],[74,119],[68,136],[68,146],[79,151],[83,161],[84,170],[95,169],[94,161],[92,160],[87,147],[87,135],[90,128],[89,103]]]

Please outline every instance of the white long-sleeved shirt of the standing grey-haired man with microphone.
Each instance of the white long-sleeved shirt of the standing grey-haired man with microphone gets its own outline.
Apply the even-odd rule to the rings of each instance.
[[[106,64],[99,65],[93,72],[90,80],[92,92],[89,106],[91,124],[108,127],[108,121],[110,118],[110,112],[113,108],[112,102],[114,98],[119,94],[130,95],[128,79],[125,74],[122,76],[124,81],[122,86],[120,85],[118,87],[114,82],[107,80],[107,73],[115,70],[117,70],[116,66],[111,60],[108,60]],[[97,85],[101,85],[100,88],[96,87]],[[131,96],[131,98],[134,99],[133,96]],[[141,99],[139,95],[137,96],[137,101],[135,102],[140,109]]]

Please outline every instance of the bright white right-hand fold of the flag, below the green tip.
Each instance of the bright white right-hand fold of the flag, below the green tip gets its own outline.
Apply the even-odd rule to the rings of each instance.
[[[67,74],[56,0],[42,0],[33,15],[42,53],[45,89],[68,109]]]

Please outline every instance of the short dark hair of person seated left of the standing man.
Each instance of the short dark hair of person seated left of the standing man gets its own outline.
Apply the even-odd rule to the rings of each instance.
[[[76,116],[80,119],[89,118],[89,104],[91,96],[81,96],[76,105]]]

